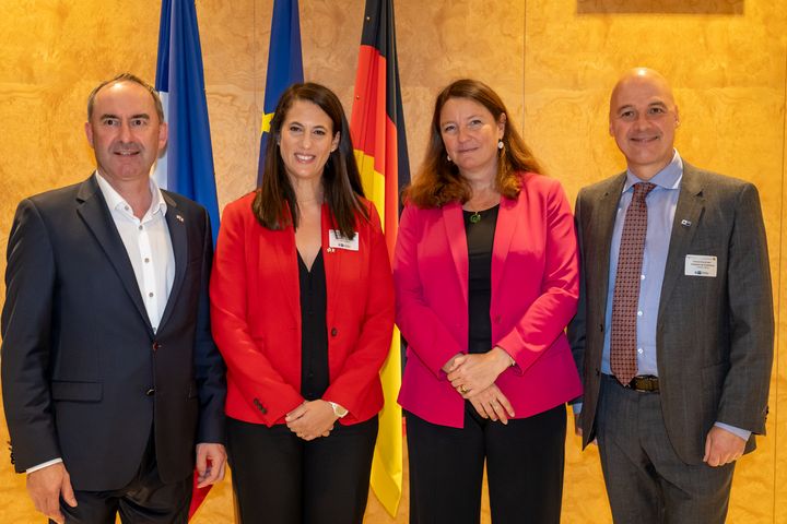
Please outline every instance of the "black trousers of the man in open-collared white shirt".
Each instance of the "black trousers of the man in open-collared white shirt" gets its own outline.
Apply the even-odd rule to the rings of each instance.
[[[193,475],[175,484],[158,477],[153,436],[134,478],[111,491],[74,491],[77,508],[60,499],[60,511],[68,524],[186,524],[191,503]],[[54,521],[49,521],[52,523]]]

